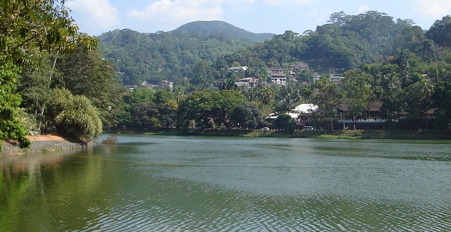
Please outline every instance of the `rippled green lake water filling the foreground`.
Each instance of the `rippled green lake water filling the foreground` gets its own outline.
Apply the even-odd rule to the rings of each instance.
[[[118,138],[0,158],[0,231],[451,230],[449,142]]]

